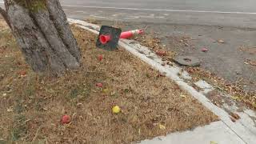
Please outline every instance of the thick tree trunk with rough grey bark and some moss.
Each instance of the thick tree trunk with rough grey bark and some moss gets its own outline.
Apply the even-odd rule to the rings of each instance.
[[[1,14],[38,72],[61,73],[80,66],[80,51],[58,0],[4,0]]]

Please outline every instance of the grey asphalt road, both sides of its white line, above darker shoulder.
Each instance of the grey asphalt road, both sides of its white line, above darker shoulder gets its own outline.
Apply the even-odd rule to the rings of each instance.
[[[70,17],[256,28],[255,0],[61,0]]]

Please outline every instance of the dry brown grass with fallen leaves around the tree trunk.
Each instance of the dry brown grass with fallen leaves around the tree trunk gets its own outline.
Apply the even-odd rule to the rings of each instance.
[[[82,67],[59,78],[31,71],[10,31],[1,31],[0,142],[129,143],[218,120],[138,58],[97,49],[95,35],[72,30]],[[63,114],[70,124],[60,123]]]

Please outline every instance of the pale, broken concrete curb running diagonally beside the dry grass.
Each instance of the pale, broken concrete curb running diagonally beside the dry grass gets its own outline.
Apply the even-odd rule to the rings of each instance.
[[[94,34],[98,34],[99,26],[97,25],[71,18],[69,18],[68,21],[70,23],[76,24],[82,29],[89,30]],[[190,78],[189,74],[186,71],[182,71],[180,67],[175,65],[162,66],[162,59],[158,58],[158,55],[154,54],[147,47],[139,45],[138,42],[121,39],[118,42],[118,45],[129,51],[131,54],[134,54],[142,61],[148,63],[155,70],[166,74],[166,77],[176,82],[182,90],[186,90],[190,95],[198,99],[198,101],[201,102],[202,105],[206,106],[214,114],[218,115],[221,121],[224,122],[225,125],[234,132],[234,134],[241,138],[243,142],[248,144],[254,144],[256,142],[256,128],[254,126],[245,126],[244,122],[246,122],[247,119],[241,120],[242,122],[232,122],[230,119],[230,115],[225,110],[222,110],[218,106],[215,106],[214,103],[210,102],[210,100],[206,98],[204,94],[198,92],[194,89],[194,87],[190,86],[187,82],[184,81],[186,78]],[[181,71],[182,75],[180,75]]]

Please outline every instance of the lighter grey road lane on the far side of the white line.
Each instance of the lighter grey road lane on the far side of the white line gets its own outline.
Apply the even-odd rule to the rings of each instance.
[[[154,10],[256,12],[255,0],[61,0],[65,5],[123,7]]]

